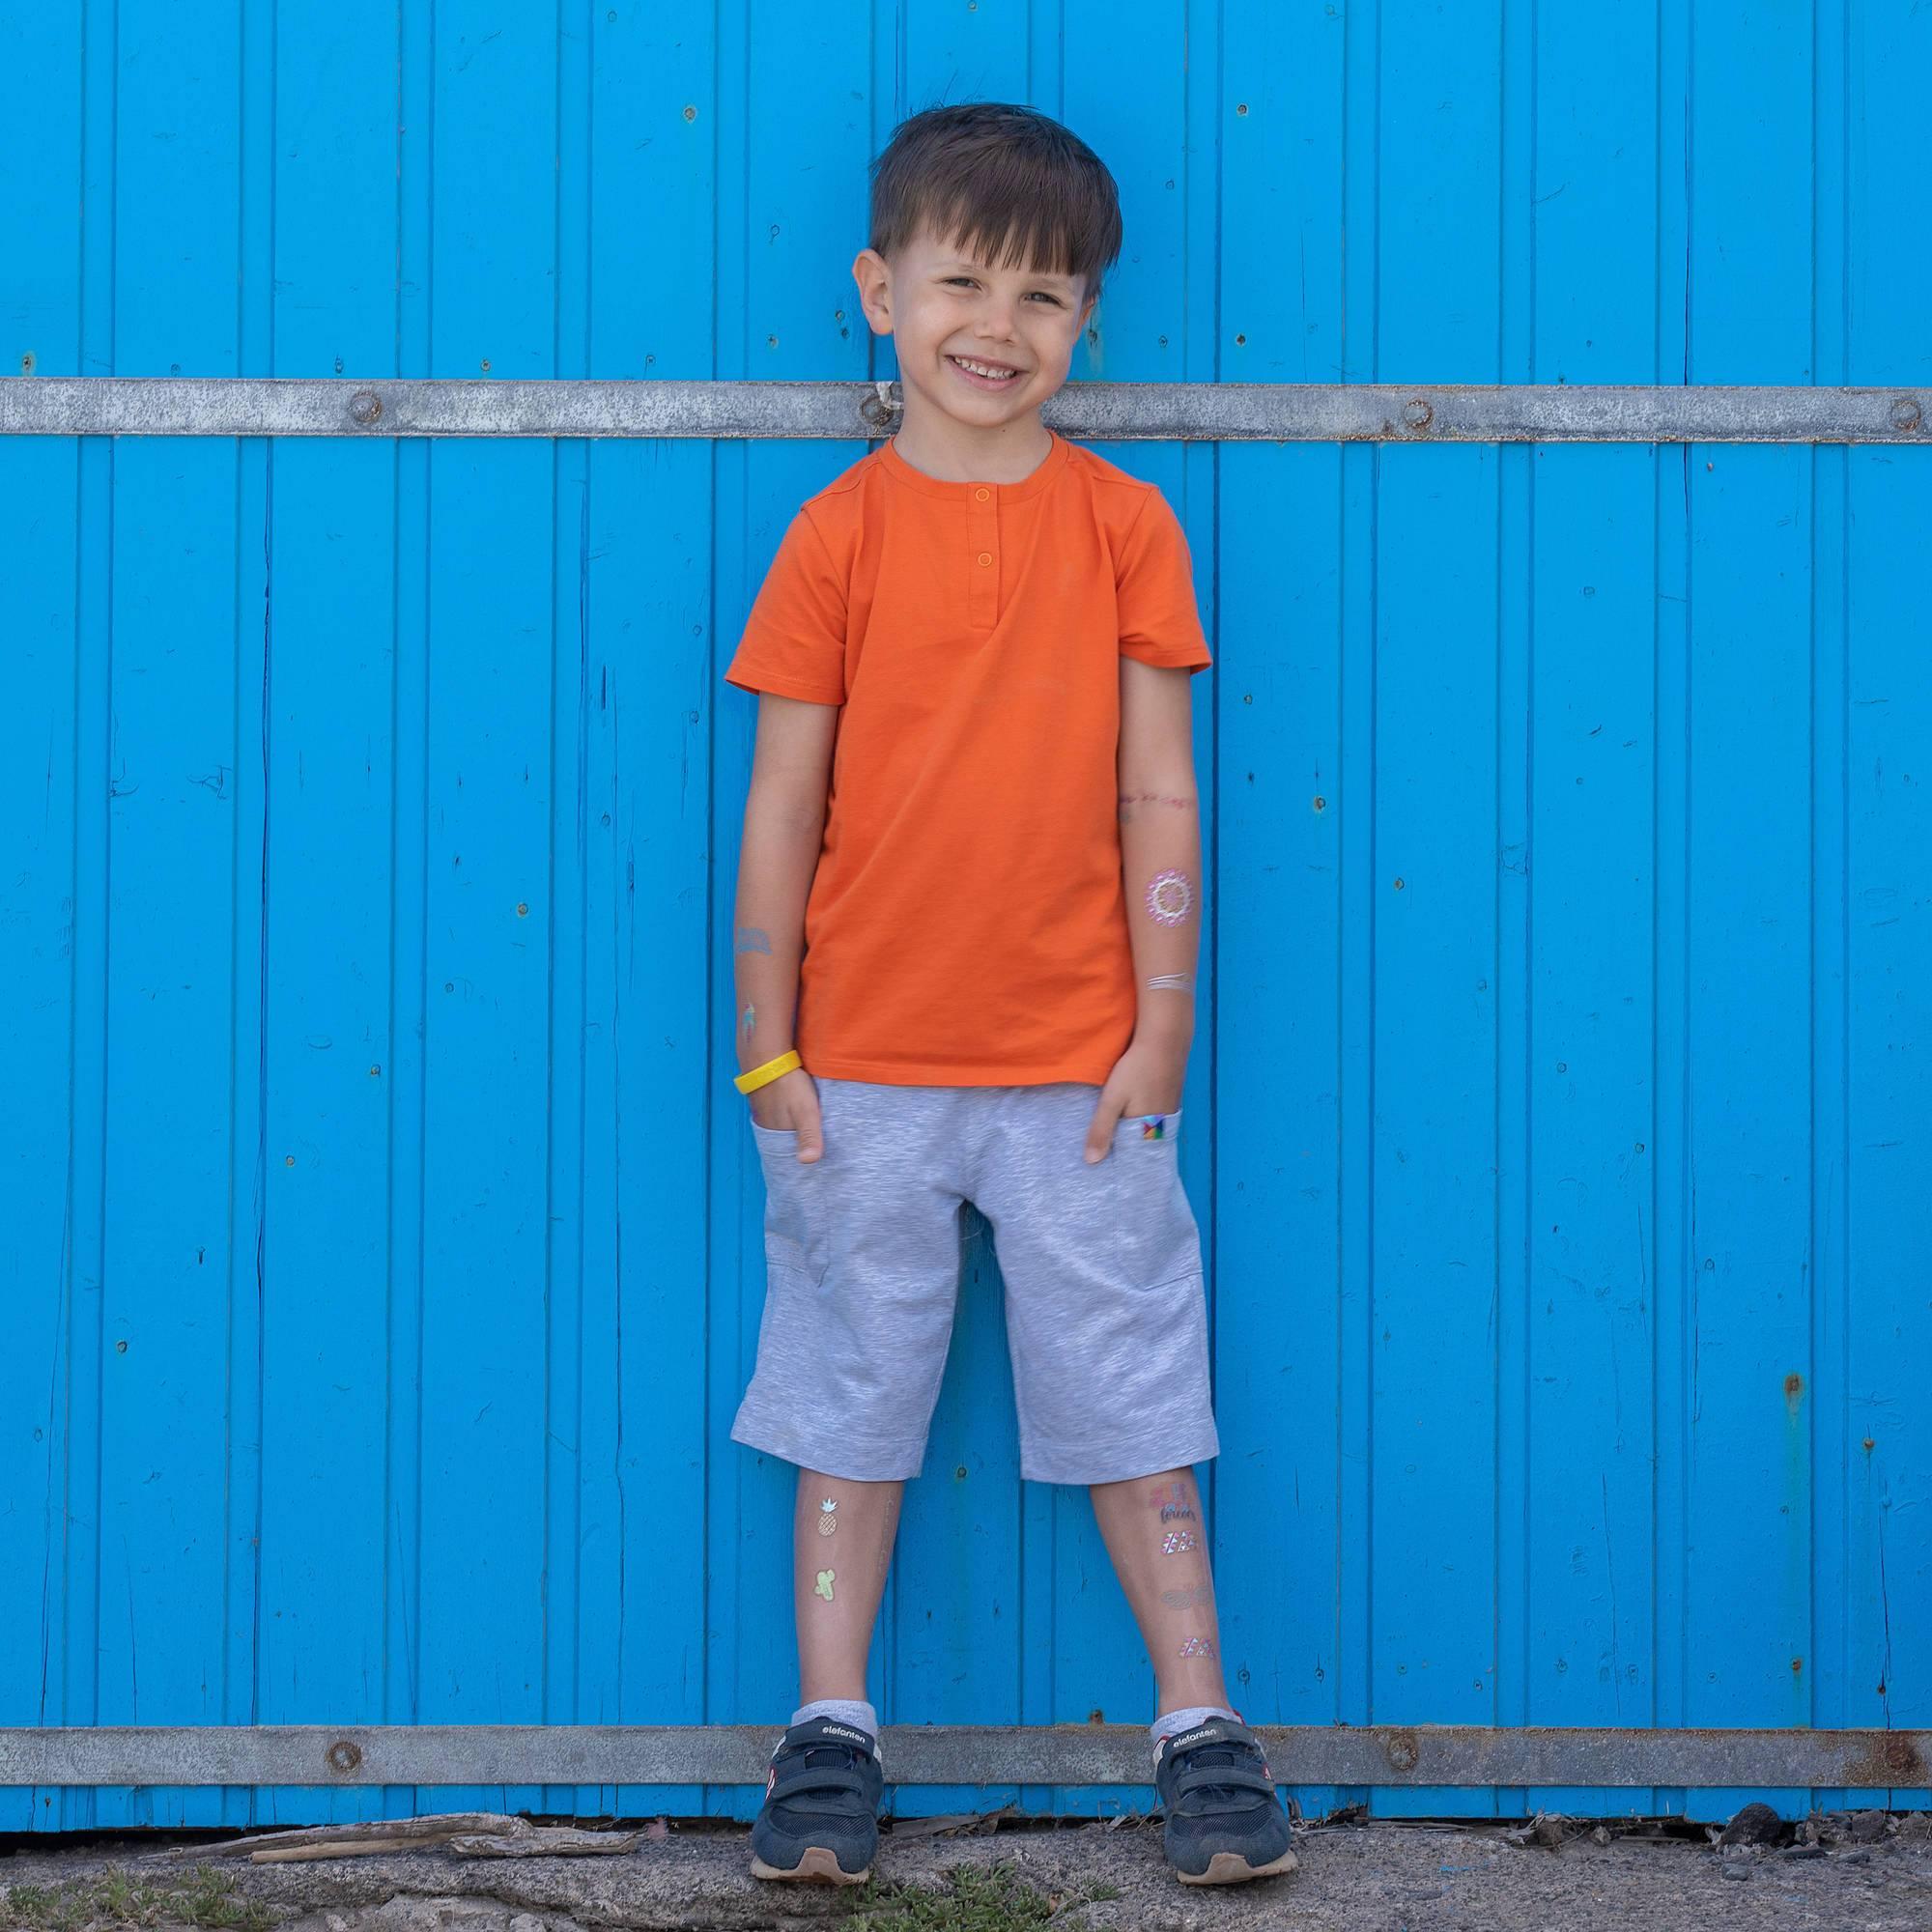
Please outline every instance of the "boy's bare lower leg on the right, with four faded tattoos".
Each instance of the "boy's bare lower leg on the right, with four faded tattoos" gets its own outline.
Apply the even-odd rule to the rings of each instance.
[[[1157,1716],[1229,1710],[1194,1472],[1092,1486],[1094,1515],[1153,1662]]]

